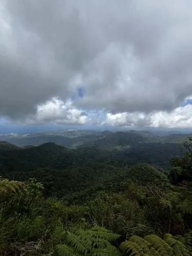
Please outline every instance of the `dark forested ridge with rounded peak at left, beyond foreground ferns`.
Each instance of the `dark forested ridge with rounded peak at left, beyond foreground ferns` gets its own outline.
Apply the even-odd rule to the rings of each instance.
[[[79,162],[77,154],[53,142],[31,148],[4,151],[0,155],[2,172],[29,172],[41,167],[66,169]]]

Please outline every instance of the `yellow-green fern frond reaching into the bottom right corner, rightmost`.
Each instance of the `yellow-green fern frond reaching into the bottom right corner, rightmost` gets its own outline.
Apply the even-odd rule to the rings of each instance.
[[[179,256],[190,256],[189,251],[187,250],[186,246],[180,242],[174,239],[174,237],[171,234],[165,234],[163,239],[170,247],[172,247],[174,251],[174,255]]]

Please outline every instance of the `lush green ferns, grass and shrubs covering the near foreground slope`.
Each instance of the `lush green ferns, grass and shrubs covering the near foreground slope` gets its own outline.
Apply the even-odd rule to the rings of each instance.
[[[192,255],[191,139],[183,146],[168,177],[136,165],[81,204],[49,197],[34,178],[2,178],[2,255]]]

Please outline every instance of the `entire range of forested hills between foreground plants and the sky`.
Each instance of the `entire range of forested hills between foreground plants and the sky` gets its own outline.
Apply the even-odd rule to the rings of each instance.
[[[180,143],[189,136],[89,130],[4,135],[0,175],[22,181],[35,177],[57,197],[79,200],[80,195],[84,200],[109,181],[115,183],[122,176],[134,179],[135,164],[152,164],[166,174],[169,159],[181,155]],[[142,170],[151,168],[144,166]]]

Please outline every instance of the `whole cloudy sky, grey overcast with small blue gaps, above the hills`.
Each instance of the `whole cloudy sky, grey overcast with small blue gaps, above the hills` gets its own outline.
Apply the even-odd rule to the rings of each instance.
[[[192,128],[191,10],[191,0],[0,0],[0,133]]]

